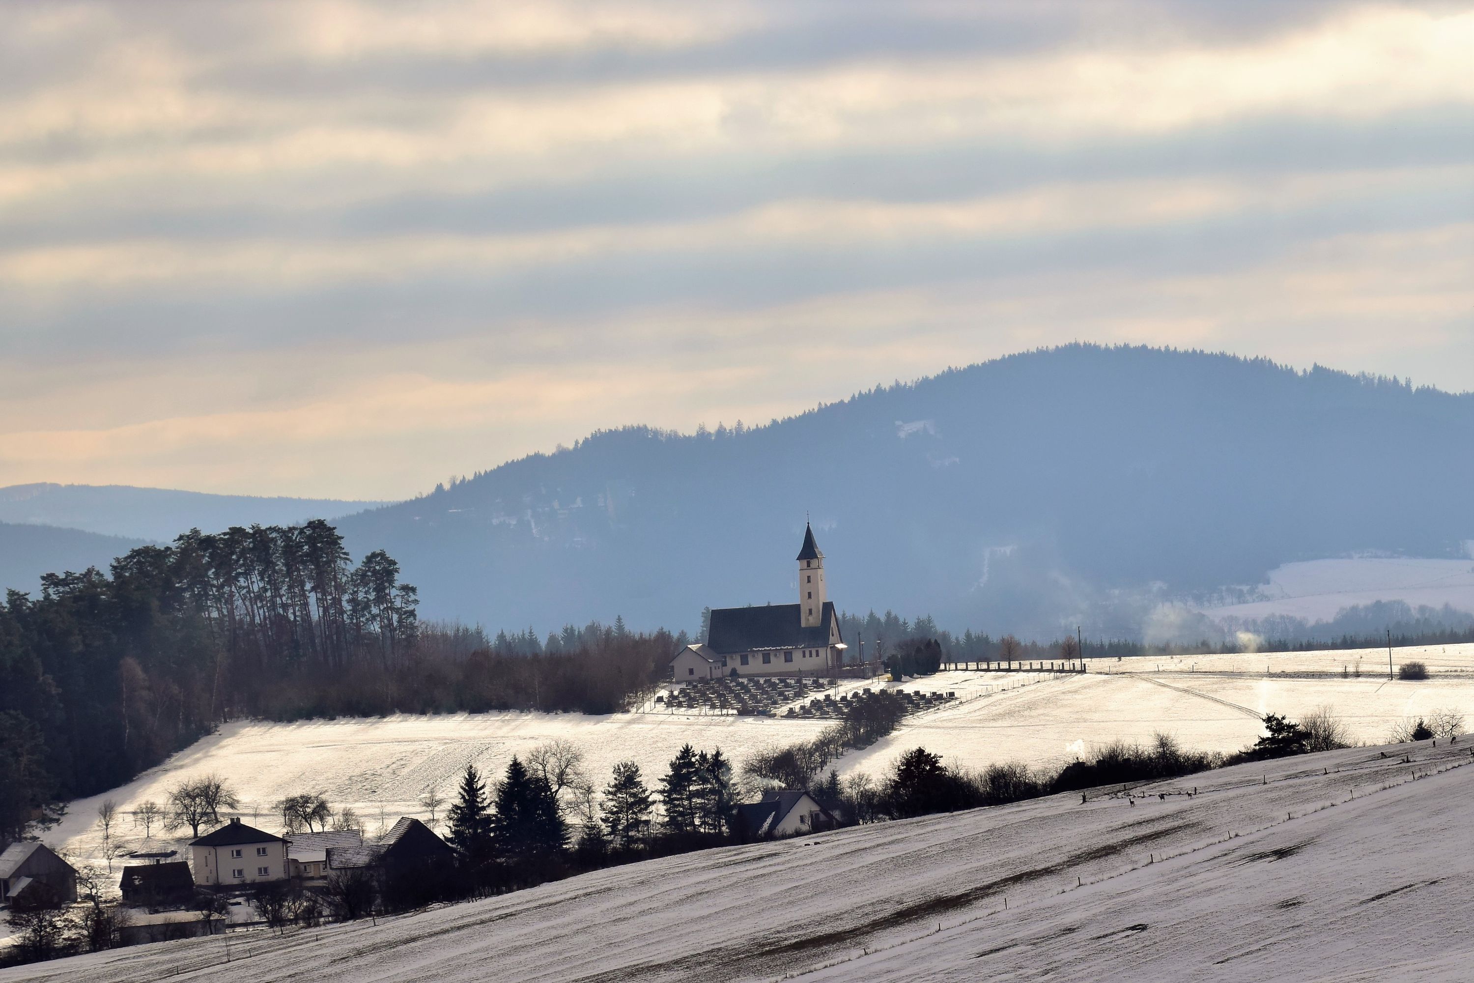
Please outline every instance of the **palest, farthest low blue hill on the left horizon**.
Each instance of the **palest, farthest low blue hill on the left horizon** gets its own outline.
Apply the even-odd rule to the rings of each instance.
[[[336,519],[380,503],[330,498],[209,495],[128,485],[10,485],[0,488],[0,522],[68,526],[109,536],[168,542],[181,532]]]

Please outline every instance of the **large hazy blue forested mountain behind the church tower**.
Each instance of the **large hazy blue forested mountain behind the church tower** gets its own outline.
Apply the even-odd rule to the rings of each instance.
[[[598,433],[339,528],[389,550],[427,616],[694,628],[792,600],[808,510],[842,609],[1135,634],[1163,597],[1281,563],[1459,556],[1471,447],[1474,395],[1067,346],[756,429]]]

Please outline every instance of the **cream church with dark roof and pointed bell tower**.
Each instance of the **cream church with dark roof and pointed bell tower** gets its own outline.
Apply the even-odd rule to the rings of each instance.
[[[671,660],[675,682],[719,676],[818,676],[845,654],[839,618],[824,590],[824,554],[805,525],[799,550],[799,603],[712,609],[706,641]]]

